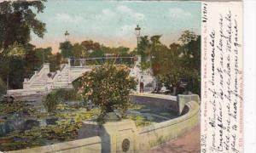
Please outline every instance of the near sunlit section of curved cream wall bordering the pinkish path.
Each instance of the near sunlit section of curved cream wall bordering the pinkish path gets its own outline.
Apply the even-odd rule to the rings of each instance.
[[[149,150],[171,139],[189,132],[200,120],[200,107],[197,102],[190,101],[185,105],[187,113],[166,122],[155,123],[148,127],[137,129],[137,150]],[[146,139],[145,139],[146,138]],[[200,138],[198,138],[200,139]]]

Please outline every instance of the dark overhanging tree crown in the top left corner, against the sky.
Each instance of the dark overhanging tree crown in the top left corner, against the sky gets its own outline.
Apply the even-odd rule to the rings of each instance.
[[[0,3],[0,50],[8,48],[14,42],[25,45],[31,40],[33,31],[38,37],[44,37],[45,24],[37,19],[42,13],[42,1],[4,1]],[[34,13],[37,11],[36,13]]]

